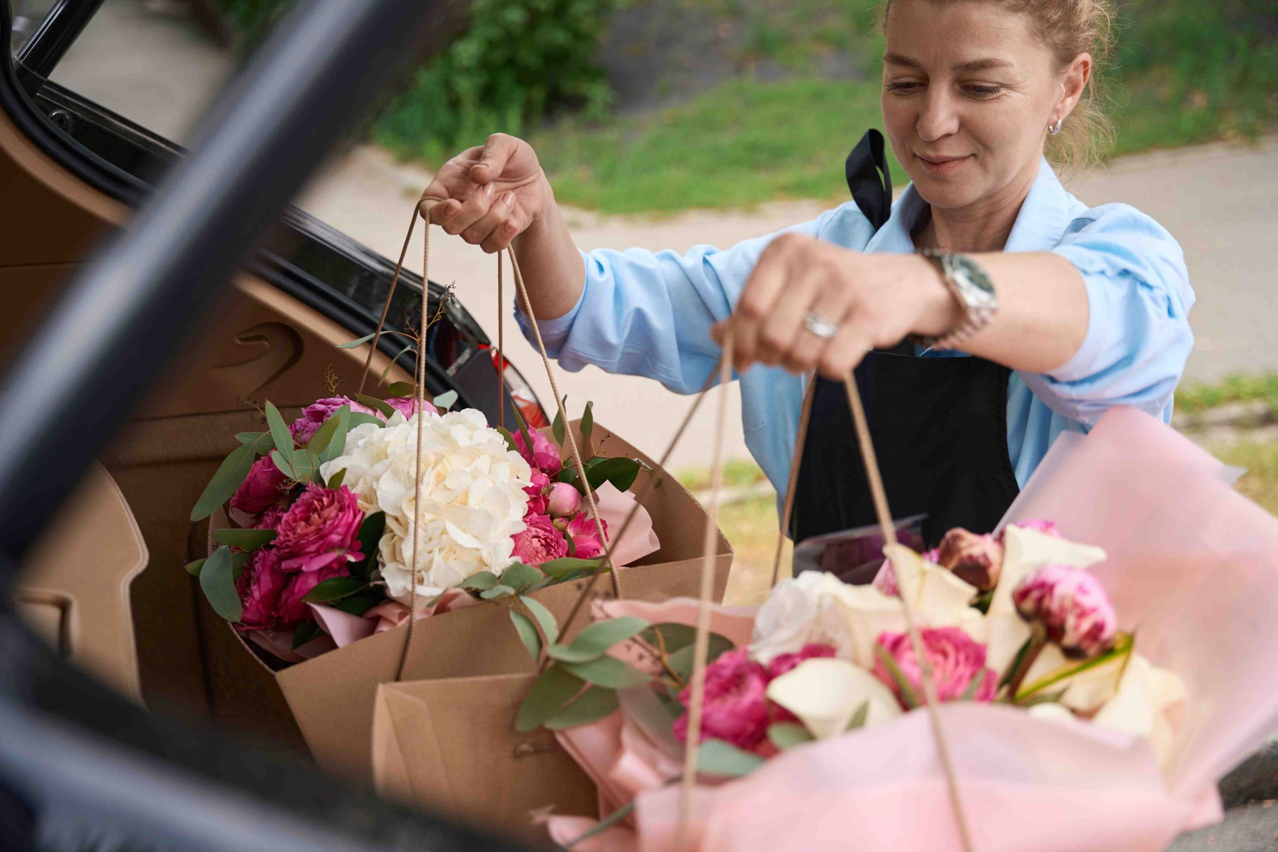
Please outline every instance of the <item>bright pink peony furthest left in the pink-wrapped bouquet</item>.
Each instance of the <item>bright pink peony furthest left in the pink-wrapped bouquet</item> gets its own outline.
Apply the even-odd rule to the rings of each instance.
[[[705,700],[702,705],[702,742],[725,740],[739,749],[754,750],[768,733],[768,673],[745,650],[730,650],[705,667]],[[679,694],[686,708],[691,687]],[[688,740],[688,714],[675,719],[675,738]]]

